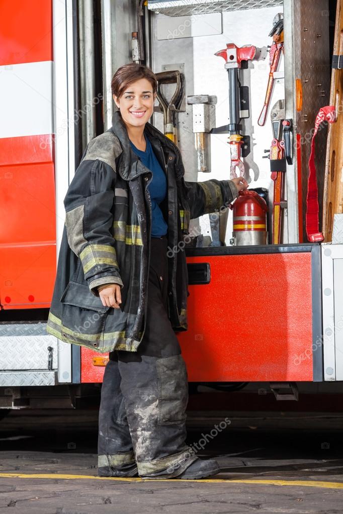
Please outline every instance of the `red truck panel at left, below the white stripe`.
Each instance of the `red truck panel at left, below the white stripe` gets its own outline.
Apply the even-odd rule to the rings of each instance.
[[[0,303],[49,307],[56,277],[51,135],[0,139]]]

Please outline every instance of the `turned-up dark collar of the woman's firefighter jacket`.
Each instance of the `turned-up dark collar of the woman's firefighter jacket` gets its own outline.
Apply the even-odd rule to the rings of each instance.
[[[137,155],[131,148],[130,139],[128,136],[128,131],[125,123],[122,120],[120,111],[115,111],[112,116],[112,127],[109,128],[109,131],[112,131],[117,138],[119,139],[121,148],[122,148],[122,159],[119,166],[119,175],[124,180],[132,180],[136,178],[138,175],[142,173],[147,173],[148,170],[145,166],[143,166],[142,162],[139,160]],[[168,139],[167,136],[162,134],[154,125],[151,123],[146,123],[144,127],[145,135],[151,139],[158,139],[163,148],[166,148],[169,151],[172,151],[176,154],[176,162],[180,164],[180,166],[175,167],[175,173],[178,178],[178,175],[183,176],[185,173],[185,169],[182,164],[182,159],[180,152],[177,146]]]

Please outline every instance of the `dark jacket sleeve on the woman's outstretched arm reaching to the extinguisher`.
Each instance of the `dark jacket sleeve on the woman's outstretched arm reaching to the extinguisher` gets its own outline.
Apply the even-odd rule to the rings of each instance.
[[[238,190],[232,180],[206,180],[185,182],[188,191],[190,219],[228,207],[238,197]]]

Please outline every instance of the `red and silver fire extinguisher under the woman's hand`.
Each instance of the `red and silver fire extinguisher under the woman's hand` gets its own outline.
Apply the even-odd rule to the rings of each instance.
[[[233,210],[233,245],[267,243],[267,204],[256,191],[240,191]]]

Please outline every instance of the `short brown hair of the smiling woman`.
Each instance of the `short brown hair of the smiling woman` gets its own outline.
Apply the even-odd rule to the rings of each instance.
[[[112,95],[115,95],[119,99],[128,85],[139,79],[149,80],[153,93],[156,93],[157,78],[154,72],[148,66],[129,63],[120,66],[115,72],[111,81]]]

